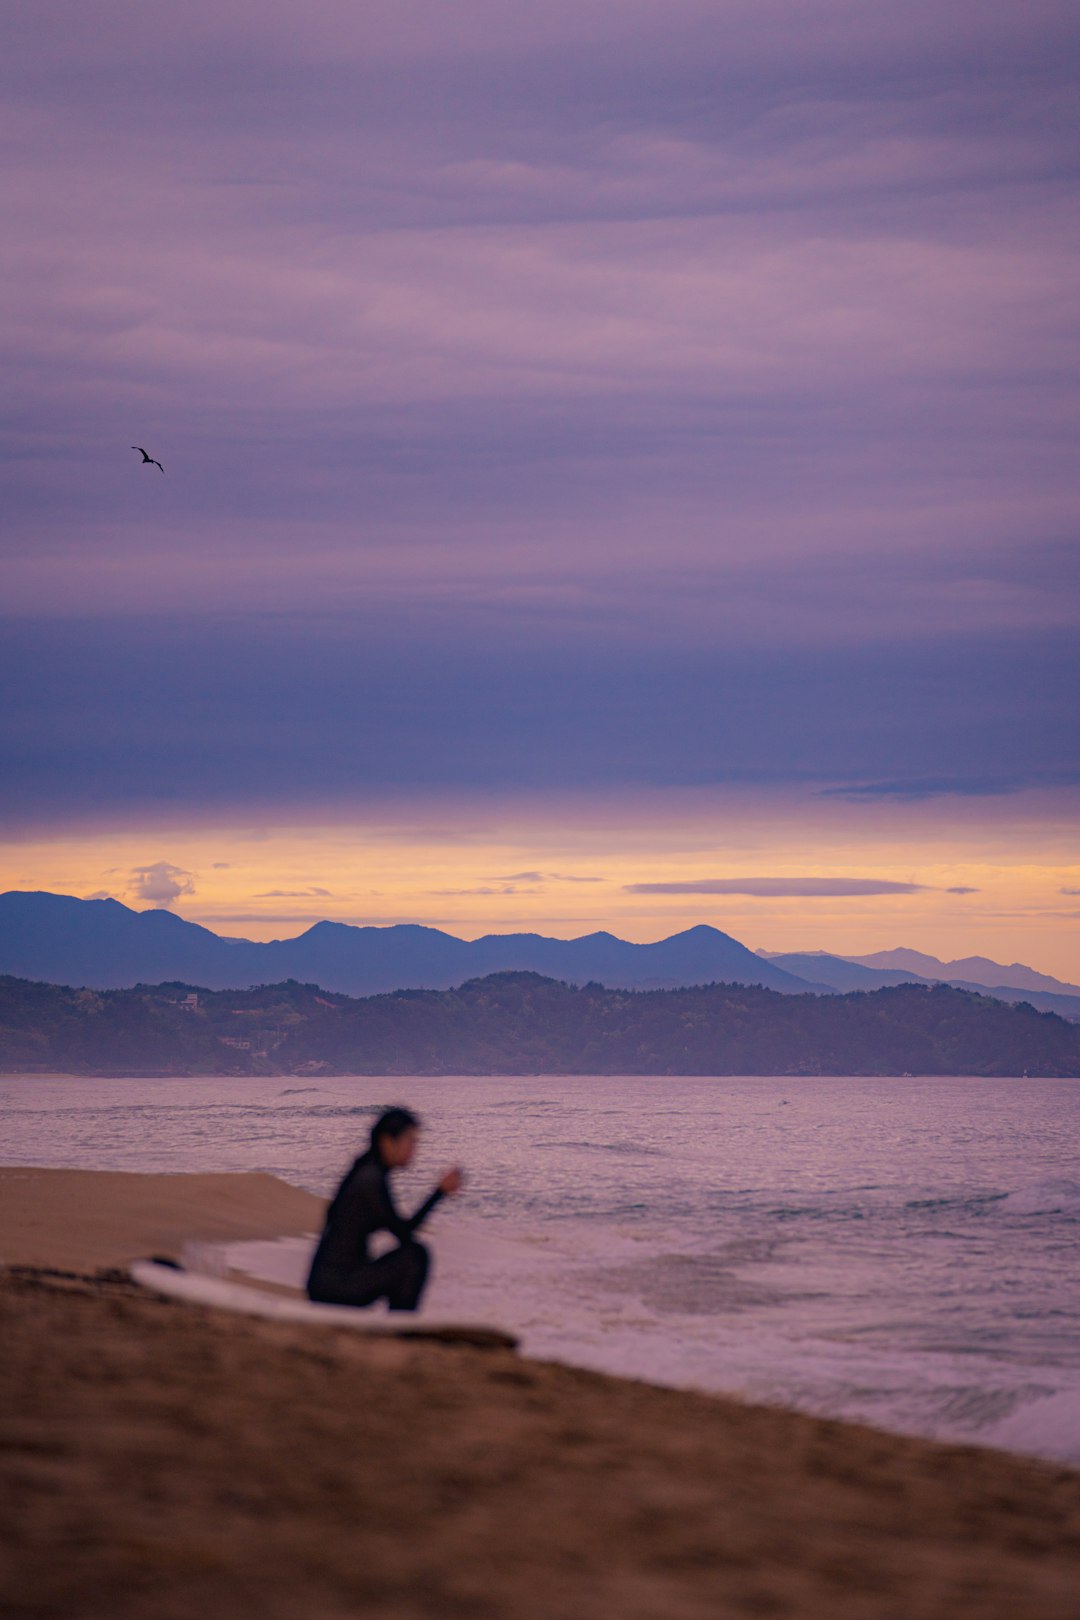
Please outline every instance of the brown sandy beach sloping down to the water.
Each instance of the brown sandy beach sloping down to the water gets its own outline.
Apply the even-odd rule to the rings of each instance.
[[[110,1270],[170,1234],[283,1234],[317,1210],[269,1176],[0,1173],[0,1609],[1080,1612],[1080,1473],[507,1351],[225,1317]]]

